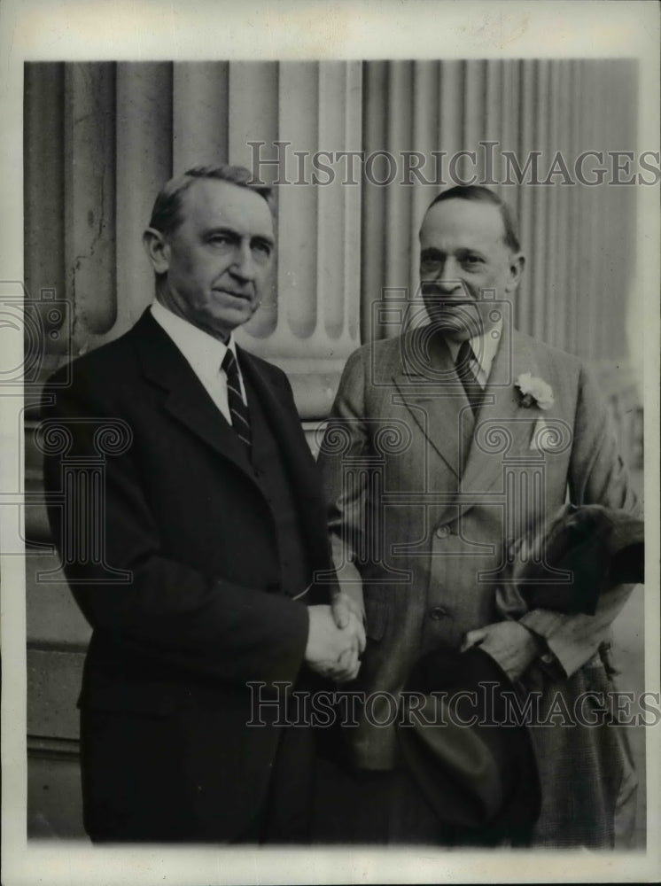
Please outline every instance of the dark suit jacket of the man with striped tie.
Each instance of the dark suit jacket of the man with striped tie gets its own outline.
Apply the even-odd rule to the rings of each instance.
[[[280,445],[312,581],[331,560],[291,387],[240,349],[239,361]],[[86,827],[113,839],[240,838],[281,737],[246,727],[246,682],[299,678],[306,603],[327,602],[329,589],[313,585],[299,601],[281,592],[259,478],[149,312],[74,361],[66,389],[63,379],[46,387],[41,432],[53,536],[93,627],[80,701]],[[76,470],[84,484],[67,482]]]

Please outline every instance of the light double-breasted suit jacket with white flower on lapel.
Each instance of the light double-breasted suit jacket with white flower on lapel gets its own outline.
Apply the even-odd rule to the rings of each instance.
[[[522,405],[515,382],[525,372],[551,385],[552,408]],[[579,359],[506,328],[477,418],[430,327],[358,349],[319,463],[340,581],[366,614],[355,685],[366,694],[396,698],[425,651],[458,648],[466,632],[502,620],[496,592],[513,542],[567,496],[636,507],[607,410]],[[595,656],[631,587],[604,595],[595,616],[533,610],[521,620],[571,677]],[[374,723],[388,723],[392,708],[374,697],[369,718],[363,711],[346,730],[357,766],[396,763],[395,725]]]

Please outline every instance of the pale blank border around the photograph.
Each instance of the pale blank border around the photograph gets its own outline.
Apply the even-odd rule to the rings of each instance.
[[[22,267],[23,63],[70,60],[293,58],[638,58],[640,130],[635,144],[659,150],[659,7],[651,2],[256,3],[251,0],[4,0],[0,5],[0,280]],[[659,190],[640,188],[636,237],[645,305],[645,491],[649,539],[659,536]],[[0,359],[19,365],[22,347]],[[5,362],[6,361],[6,362]],[[22,488],[16,439],[20,397],[0,397],[0,490]],[[17,508],[0,508],[0,550],[20,538]],[[661,727],[649,729],[648,834],[641,853],[579,851],[374,851],[316,847],[99,849],[26,840],[25,567],[2,558],[3,883],[184,884],[268,882],[656,882],[661,876]],[[646,563],[646,688],[659,691],[658,550]]]

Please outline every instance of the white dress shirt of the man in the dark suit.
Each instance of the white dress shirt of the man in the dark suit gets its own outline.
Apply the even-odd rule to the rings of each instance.
[[[193,326],[188,320],[183,320],[181,317],[173,314],[167,307],[161,305],[159,301],[152,302],[151,310],[154,320],[172,338],[175,345],[190,363],[195,375],[204,385],[208,395],[214,400],[215,405],[221,410],[222,415],[225,416],[229,424],[232,424],[227,399],[227,376],[225,375],[225,370],[222,369],[222,360],[228,348],[234,354],[236,360],[237,346],[234,336],[230,335],[229,341],[225,345],[218,338],[209,335],[208,332]],[[241,396],[244,403],[247,404],[241,369],[238,370],[238,378],[241,383]]]

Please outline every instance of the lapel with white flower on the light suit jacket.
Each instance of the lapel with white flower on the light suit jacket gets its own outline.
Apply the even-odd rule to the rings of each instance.
[[[522,372],[539,374],[534,350],[516,330],[510,336],[505,325],[460,485],[461,492],[472,499],[475,494],[488,492],[502,479],[503,459],[529,454],[533,426],[540,411],[520,405],[515,382]],[[461,510],[468,508],[470,501],[464,501]]]

